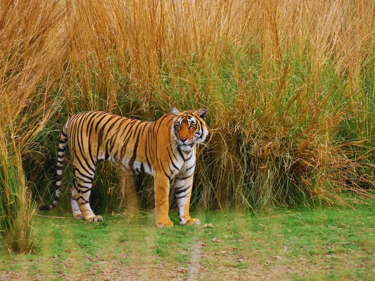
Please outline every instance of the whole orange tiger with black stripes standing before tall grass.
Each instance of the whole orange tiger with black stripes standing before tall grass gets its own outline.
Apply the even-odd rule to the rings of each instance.
[[[74,165],[72,187],[73,216],[86,221],[101,221],[89,204],[92,181],[98,163],[112,160],[130,173],[154,176],[156,226],[173,226],[169,219],[169,181],[174,179],[180,224],[199,224],[190,218],[189,203],[195,169],[196,144],[203,142],[208,130],[207,109],[180,112],[172,108],[157,121],[145,122],[101,111],[81,112],[66,122],[57,158],[56,194],[50,210],[57,205],[61,191],[61,176],[65,146],[69,146]]]

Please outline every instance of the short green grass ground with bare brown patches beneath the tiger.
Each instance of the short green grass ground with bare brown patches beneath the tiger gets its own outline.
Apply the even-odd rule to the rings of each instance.
[[[354,207],[198,212],[201,226],[216,226],[204,229],[173,212],[176,225],[158,229],[151,211],[89,223],[55,210],[68,218],[35,216],[38,254],[1,248],[0,280],[371,280],[375,203]]]

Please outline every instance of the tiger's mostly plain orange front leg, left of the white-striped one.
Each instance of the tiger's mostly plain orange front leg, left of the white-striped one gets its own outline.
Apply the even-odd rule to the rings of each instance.
[[[169,179],[165,175],[157,174],[154,177],[154,190],[155,190],[156,226],[157,227],[173,226],[173,223],[168,216]]]

